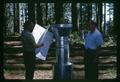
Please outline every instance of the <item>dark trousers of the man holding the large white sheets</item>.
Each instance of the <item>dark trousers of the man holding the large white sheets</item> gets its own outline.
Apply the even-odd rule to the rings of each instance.
[[[35,70],[35,53],[34,52],[24,52],[24,64],[25,64],[25,79],[32,80]]]

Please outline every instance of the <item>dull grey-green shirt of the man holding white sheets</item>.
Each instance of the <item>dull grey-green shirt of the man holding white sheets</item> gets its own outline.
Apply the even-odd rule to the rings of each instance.
[[[24,30],[22,32],[21,39],[23,44],[23,51],[35,52],[35,39],[31,32]]]

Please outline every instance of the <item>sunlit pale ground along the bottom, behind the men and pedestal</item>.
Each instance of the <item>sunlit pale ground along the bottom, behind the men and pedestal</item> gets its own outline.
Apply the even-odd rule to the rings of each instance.
[[[6,70],[4,71],[5,79],[25,79],[24,70]],[[73,71],[72,79],[84,79],[84,71]],[[36,70],[34,73],[34,79],[53,79],[54,75],[52,70]],[[99,79],[115,79],[116,70],[108,69],[105,71],[99,71]]]

